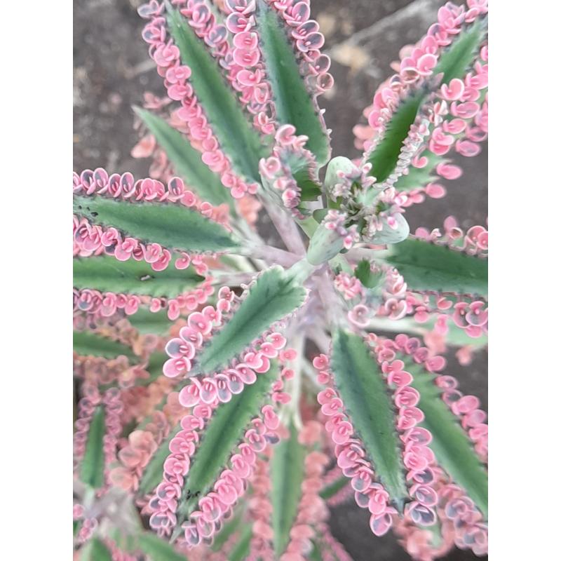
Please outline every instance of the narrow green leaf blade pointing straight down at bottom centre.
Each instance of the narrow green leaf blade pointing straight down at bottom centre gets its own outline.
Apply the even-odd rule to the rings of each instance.
[[[290,541],[290,529],[296,520],[302,497],[305,447],[298,442],[298,431],[289,426],[290,436],[281,440],[271,459],[271,525],[276,557],[280,557]]]

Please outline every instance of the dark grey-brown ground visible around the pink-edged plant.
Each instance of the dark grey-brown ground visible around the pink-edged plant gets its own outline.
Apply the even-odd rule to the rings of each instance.
[[[323,49],[332,57],[335,87],[320,98],[325,121],[332,128],[334,156],[356,157],[353,126],[381,81],[389,76],[399,50],[414,43],[435,20],[444,0],[311,0],[312,17],[325,34]],[[140,0],[74,0],[74,169],[102,166],[109,173],[147,175],[148,161],[130,150],[137,142],[133,104],[149,90],[163,94],[163,85],[140,32],[136,8]],[[487,219],[487,146],[475,158],[461,158],[464,175],[447,184],[448,195],[428,199],[407,210],[412,231],[442,227],[454,215],[464,228]],[[487,353],[468,367],[447,356],[450,373],[465,393],[473,393],[487,410]],[[332,532],[355,561],[407,561],[391,532],[375,538],[368,514],[352,499],[332,510]],[[447,561],[475,560],[471,552],[452,550]]]

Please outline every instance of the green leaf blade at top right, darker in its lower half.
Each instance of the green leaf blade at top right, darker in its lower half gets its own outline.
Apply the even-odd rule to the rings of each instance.
[[[476,20],[462,29],[452,45],[440,54],[433,75],[442,74],[442,83],[450,83],[454,78],[464,78],[486,33],[487,24],[483,20]],[[396,168],[407,133],[432,90],[433,88],[422,86],[400,103],[386,127],[384,138],[367,158],[372,163],[370,175],[374,175],[378,183],[385,181]]]

